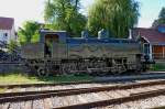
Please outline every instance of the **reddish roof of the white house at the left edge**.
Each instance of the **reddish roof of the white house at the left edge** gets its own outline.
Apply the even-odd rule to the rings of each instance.
[[[11,30],[14,24],[13,18],[0,17],[0,30]]]

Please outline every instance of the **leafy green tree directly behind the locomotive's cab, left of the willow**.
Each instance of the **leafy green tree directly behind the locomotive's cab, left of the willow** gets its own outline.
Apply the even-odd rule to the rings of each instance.
[[[86,26],[86,17],[79,12],[80,0],[47,0],[44,19],[48,28],[65,30],[72,35],[80,34]]]

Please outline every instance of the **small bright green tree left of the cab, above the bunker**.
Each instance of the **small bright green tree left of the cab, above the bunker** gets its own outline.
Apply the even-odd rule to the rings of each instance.
[[[23,24],[23,28],[19,28],[18,35],[20,43],[31,43],[36,42],[38,40],[38,30],[41,24],[35,21],[26,21]]]

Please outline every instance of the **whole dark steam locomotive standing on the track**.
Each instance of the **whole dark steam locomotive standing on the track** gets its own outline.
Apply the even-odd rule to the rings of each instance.
[[[65,31],[40,31],[40,42],[22,46],[25,65],[38,76],[50,74],[121,74],[145,70],[146,59],[135,40],[112,39],[101,30],[97,37],[87,31],[69,37]]]

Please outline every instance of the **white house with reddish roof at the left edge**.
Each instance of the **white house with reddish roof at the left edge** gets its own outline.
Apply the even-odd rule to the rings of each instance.
[[[14,29],[14,19],[0,17],[0,41],[9,44],[11,40],[18,40]]]

